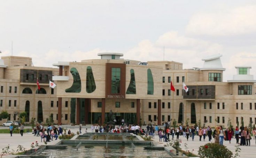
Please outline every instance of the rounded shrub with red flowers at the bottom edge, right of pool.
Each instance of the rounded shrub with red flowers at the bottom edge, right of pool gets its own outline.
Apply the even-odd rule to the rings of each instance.
[[[207,143],[199,147],[198,156],[200,158],[231,158],[233,153],[224,145],[217,143]]]

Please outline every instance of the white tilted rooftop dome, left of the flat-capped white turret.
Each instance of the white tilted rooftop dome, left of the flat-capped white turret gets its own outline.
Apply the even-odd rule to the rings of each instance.
[[[202,59],[204,61],[203,67],[200,68],[200,70],[223,70],[223,71],[225,71],[225,68],[222,67],[220,57],[222,57],[221,54],[210,55],[210,56],[204,57]]]

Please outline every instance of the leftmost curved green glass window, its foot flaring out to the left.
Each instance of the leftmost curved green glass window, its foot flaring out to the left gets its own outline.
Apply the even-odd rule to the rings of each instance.
[[[67,93],[80,93],[81,92],[81,79],[76,68],[72,67],[70,73],[73,76],[73,84],[70,88],[66,89]]]

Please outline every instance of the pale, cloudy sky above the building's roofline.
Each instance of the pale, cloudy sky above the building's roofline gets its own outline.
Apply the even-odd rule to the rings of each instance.
[[[220,53],[224,82],[235,66],[256,79],[255,43],[255,0],[0,0],[0,56],[39,67],[116,52],[190,69]]]

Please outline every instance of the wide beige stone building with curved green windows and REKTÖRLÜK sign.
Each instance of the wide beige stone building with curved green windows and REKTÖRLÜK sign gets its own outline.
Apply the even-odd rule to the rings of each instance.
[[[174,61],[126,60],[122,53],[99,53],[100,59],[59,61],[56,68],[34,67],[32,58],[0,59],[0,113],[27,122],[104,124],[201,124],[227,127],[256,122],[256,95],[251,66],[234,66],[232,80],[223,82],[220,57],[203,58],[202,68],[183,69]],[[37,78],[40,90],[37,88]],[[49,87],[49,80],[57,86]],[[171,82],[175,91],[170,90]],[[188,92],[183,90],[186,85]],[[111,113],[111,118],[109,113]]]

